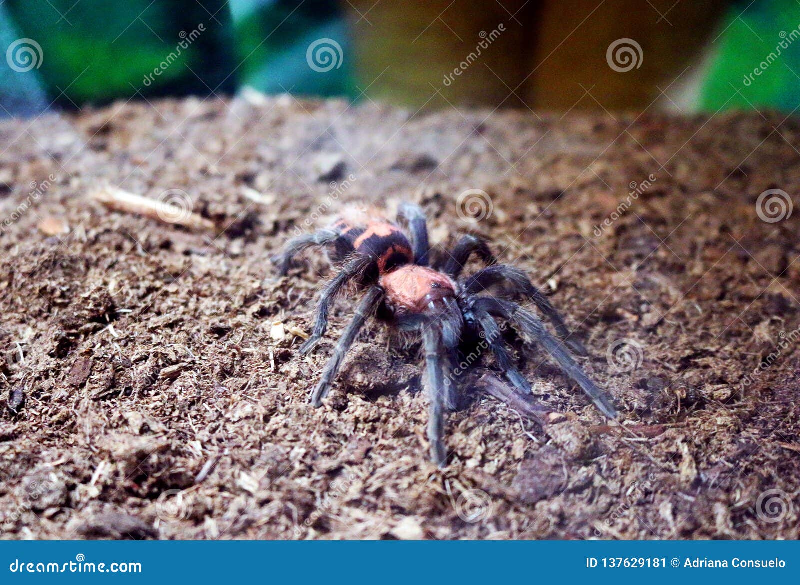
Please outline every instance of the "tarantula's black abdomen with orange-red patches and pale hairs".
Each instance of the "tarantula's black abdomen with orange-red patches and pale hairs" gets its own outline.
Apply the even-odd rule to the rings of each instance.
[[[342,238],[351,250],[339,250],[340,253],[355,250],[378,260],[381,273],[406,264],[414,264],[414,252],[411,244],[397,225],[382,218],[366,220],[364,223],[351,223],[349,218],[339,219],[334,223]]]

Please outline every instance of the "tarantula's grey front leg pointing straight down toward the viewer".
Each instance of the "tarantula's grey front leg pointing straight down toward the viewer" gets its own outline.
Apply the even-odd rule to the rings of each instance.
[[[444,363],[446,347],[442,342],[442,332],[435,323],[422,326],[422,341],[425,348],[426,385],[428,390],[428,441],[430,460],[440,468],[447,463],[444,444],[446,385]]]

